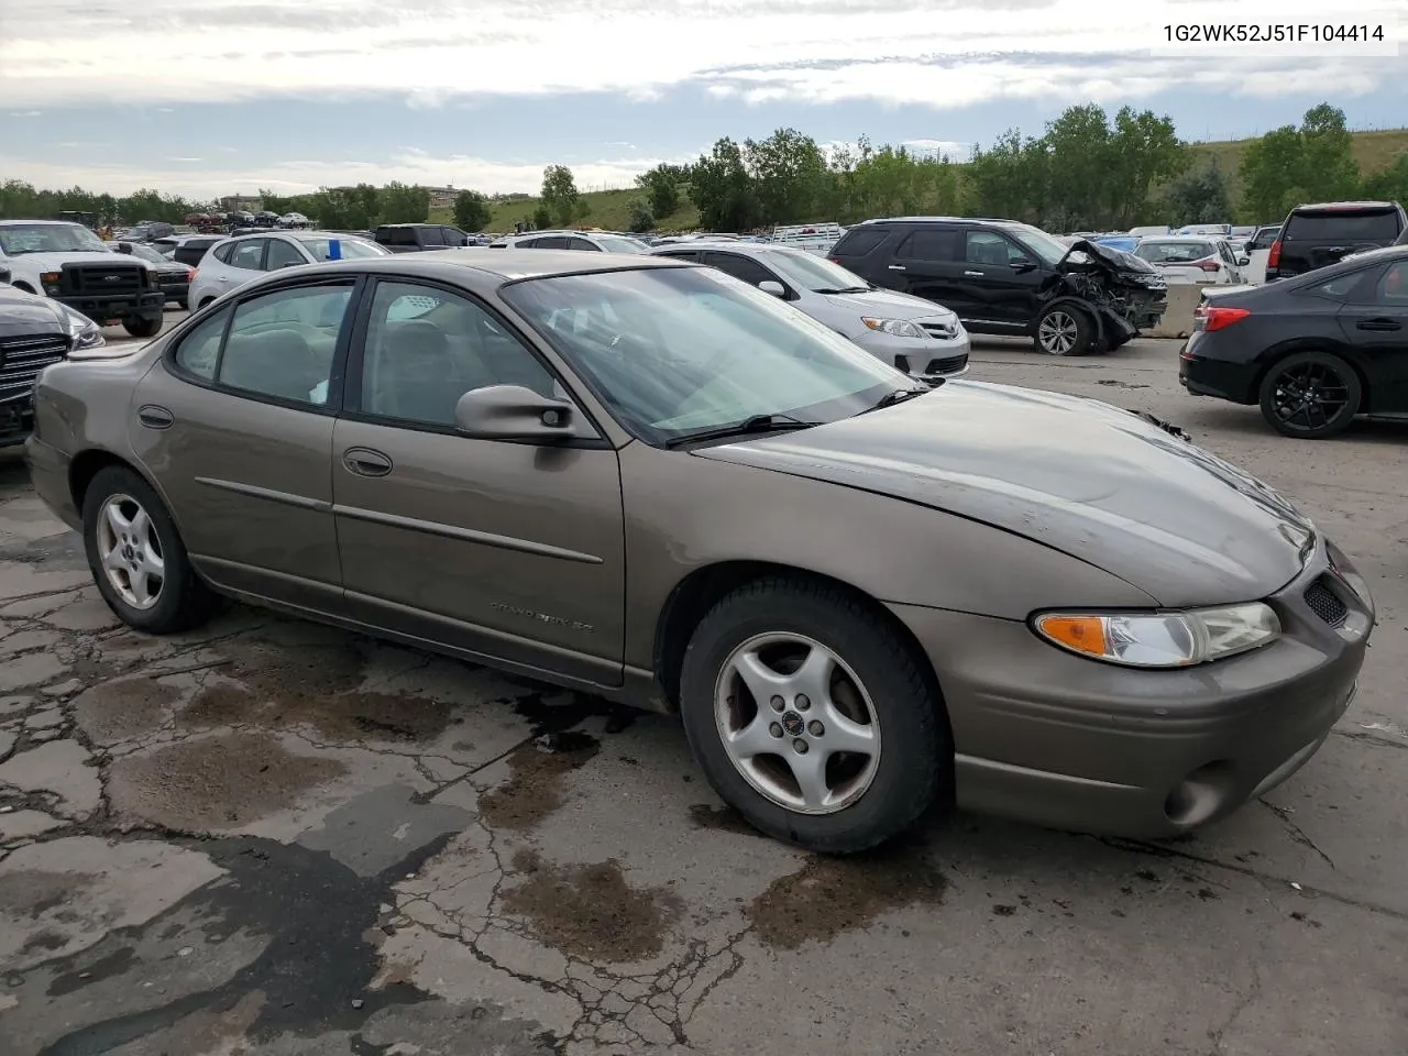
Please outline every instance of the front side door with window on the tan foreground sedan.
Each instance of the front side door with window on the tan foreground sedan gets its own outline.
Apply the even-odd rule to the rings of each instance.
[[[472,389],[565,396],[549,369],[469,296],[386,279],[348,377],[332,493],[349,611],[524,669],[620,684],[615,451],[455,431]]]

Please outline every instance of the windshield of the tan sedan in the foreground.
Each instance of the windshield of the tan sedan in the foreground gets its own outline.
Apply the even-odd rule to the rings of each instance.
[[[849,418],[914,382],[712,268],[513,283],[503,297],[650,444],[758,415]]]

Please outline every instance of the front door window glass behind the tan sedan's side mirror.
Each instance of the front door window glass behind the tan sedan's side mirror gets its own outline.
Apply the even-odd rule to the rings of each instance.
[[[563,394],[538,358],[470,298],[417,283],[377,284],[362,353],[365,414],[452,428],[459,397],[493,384]]]

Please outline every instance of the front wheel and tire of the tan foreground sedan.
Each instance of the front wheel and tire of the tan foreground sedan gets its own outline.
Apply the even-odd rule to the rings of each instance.
[[[684,655],[680,712],[714,790],[753,826],[822,853],[908,829],[953,765],[932,680],[838,589],[767,579],[722,598]]]

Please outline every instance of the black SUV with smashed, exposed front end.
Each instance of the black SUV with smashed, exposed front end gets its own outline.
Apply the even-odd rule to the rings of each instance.
[[[1011,220],[867,220],[831,251],[867,282],[936,301],[973,334],[1029,337],[1039,352],[1112,352],[1157,325],[1169,286],[1131,253],[1063,245]]]

